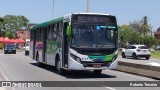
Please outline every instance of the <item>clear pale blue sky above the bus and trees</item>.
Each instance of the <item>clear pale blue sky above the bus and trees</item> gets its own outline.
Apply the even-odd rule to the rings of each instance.
[[[42,23],[75,12],[86,12],[87,0],[0,0],[0,17],[23,15]],[[153,31],[160,27],[160,0],[90,0],[90,12],[117,17],[118,25],[147,16]]]

